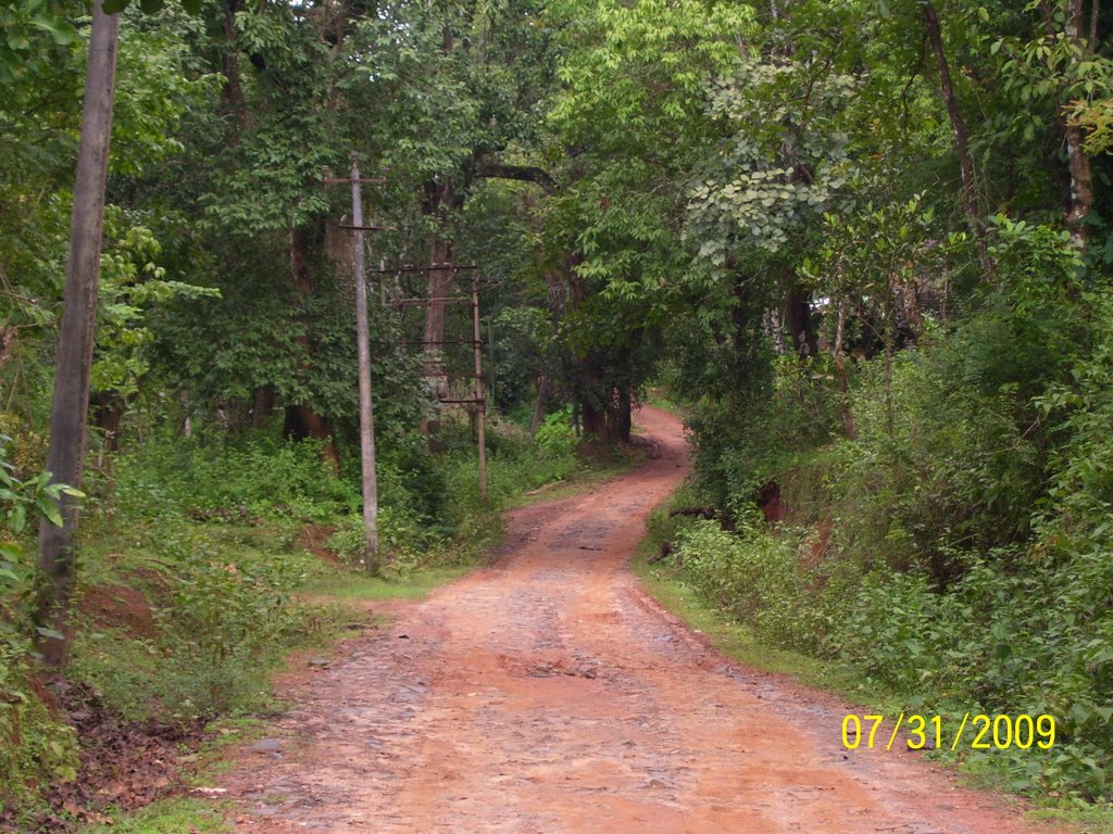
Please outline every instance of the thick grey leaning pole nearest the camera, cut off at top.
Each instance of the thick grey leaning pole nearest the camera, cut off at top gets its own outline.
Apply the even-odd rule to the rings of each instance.
[[[53,483],[72,487],[81,486],[83,475],[118,42],[119,17],[105,14],[100,3],[93,0],[47,450],[47,469]],[[69,655],[68,609],[77,556],[78,505],[67,495],[60,498],[59,505],[62,525],[57,527],[43,520],[39,527],[42,577],[35,612],[36,624],[43,629],[39,632],[38,649],[43,661],[52,666],[65,665]]]

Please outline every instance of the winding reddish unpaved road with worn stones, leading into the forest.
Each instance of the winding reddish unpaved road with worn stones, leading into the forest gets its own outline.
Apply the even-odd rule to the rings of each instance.
[[[639,424],[646,466],[512,513],[493,567],[301,676],[221,777],[237,831],[1050,831],[918,754],[846,753],[845,706],[737,667],[647,598],[624,563],[688,463],[676,418]]]

